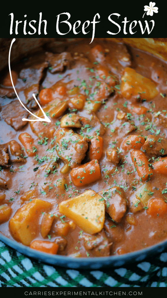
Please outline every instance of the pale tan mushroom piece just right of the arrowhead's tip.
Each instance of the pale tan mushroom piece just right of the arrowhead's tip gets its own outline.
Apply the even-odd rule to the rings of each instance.
[[[78,115],[76,114],[67,114],[67,115],[64,115],[61,120],[60,120],[60,126],[62,128],[65,128],[65,127],[76,127],[76,128],[81,128],[82,127],[82,124],[81,124],[81,121],[80,121],[81,117],[79,117]]]

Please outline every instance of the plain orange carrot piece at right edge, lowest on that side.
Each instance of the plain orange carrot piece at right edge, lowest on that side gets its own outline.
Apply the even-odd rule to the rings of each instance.
[[[152,216],[164,215],[167,213],[167,204],[162,198],[150,199],[146,212]]]

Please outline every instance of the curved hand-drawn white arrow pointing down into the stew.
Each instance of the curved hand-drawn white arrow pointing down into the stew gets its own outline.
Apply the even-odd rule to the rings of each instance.
[[[42,108],[41,108],[39,102],[37,101],[37,99],[36,99],[34,93],[32,94],[33,97],[34,97],[34,100],[35,100],[35,101],[37,102],[37,104],[39,105],[40,110],[42,111],[42,113],[43,113],[45,119],[42,119],[42,118],[40,118],[40,117],[34,115],[33,113],[31,113],[31,112],[25,107],[25,105],[23,105],[23,103],[21,102],[20,98],[18,97],[18,94],[17,94],[17,92],[16,92],[15,86],[14,86],[14,84],[13,84],[12,75],[11,75],[11,69],[10,69],[10,52],[11,52],[12,44],[15,42],[15,40],[16,40],[15,38],[12,39],[12,42],[11,42],[11,45],[10,45],[10,50],[9,50],[9,72],[10,72],[10,78],[11,78],[12,86],[13,86],[13,89],[15,90],[15,94],[16,94],[18,100],[20,101],[20,103],[22,104],[22,106],[26,109],[27,112],[29,112],[32,116],[34,116],[34,117],[37,118],[37,119],[34,119],[34,120],[23,118],[22,121],[43,121],[43,122],[51,122],[51,120],[46,116],[45,112],[42,110]]]

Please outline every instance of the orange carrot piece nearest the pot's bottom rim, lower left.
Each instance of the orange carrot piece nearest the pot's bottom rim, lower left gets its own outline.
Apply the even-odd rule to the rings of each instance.
[[[43,240],[34,240],[30,247],[32,249],[39,250],[40,252],[46,252],[47,254],[56,254],[59,248],[59,245],[54,242],[43,241]]]

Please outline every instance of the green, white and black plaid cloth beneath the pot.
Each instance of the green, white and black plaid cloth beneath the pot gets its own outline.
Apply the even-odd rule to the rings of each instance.
[[[28,258],[0,241],[1,287],[166,287],[167,252],[140,263],[74,270]]]

